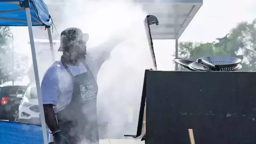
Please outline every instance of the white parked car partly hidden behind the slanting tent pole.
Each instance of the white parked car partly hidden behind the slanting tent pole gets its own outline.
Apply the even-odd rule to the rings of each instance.
[[[18,122],[41,124],[38,96],[35,85],[30,85],[19,106]]]

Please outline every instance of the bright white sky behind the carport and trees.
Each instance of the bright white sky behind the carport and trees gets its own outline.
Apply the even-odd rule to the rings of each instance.
[[[189,23],[179,41],[212,42],[223,37],[241,21],[251,22],[256,18],[256,0],[204,0],[203,6]],[[30,53],[19,49],[27,45],[26,27],[12,27],[15,38],[15,51],[20,54]],[[47,32],[47,31],[45,31]],[[172,60],[175,51],[174,40],[154,40],[154,50],[159,70],[174,70]],[[29,45],[28,45],[29,46]]]

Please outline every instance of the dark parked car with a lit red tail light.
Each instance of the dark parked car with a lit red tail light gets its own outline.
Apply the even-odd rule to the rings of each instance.
[[[15,121],[20,101],[27,86],[0,87],[0,120]]]

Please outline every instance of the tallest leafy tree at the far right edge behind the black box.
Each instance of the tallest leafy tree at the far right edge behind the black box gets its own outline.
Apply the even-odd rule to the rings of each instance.
[[[252,23],[241,22],[216,43],[227,46],[230,56],[242,59],[244,71],[256,70],[256,19]]]

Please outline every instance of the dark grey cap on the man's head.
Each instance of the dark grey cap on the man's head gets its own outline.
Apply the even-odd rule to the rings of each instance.
[[[76,42],[76,40],[83,40],[85,43],[88,41],[89,35],[83,33],[79,28],[67,28],[61,32],[61,44],[58,52],[66,51],[69,49],[69,44]]]

